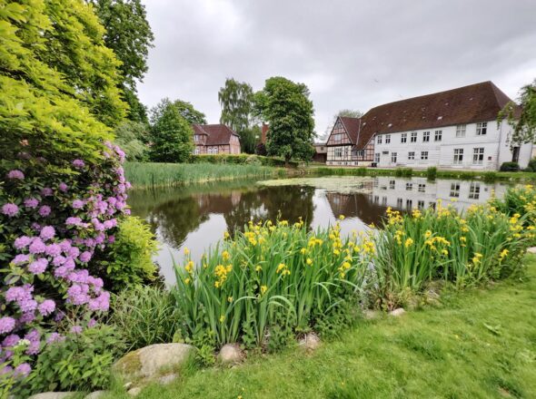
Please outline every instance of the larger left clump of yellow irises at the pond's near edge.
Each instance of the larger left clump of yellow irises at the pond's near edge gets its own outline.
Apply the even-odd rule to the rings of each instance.
[[[368,238],[360,245],[356,235],[341,238],[338,223],[309,232],[303,221],[251,222],[201,264],[175,267],[184,336],[262,345],[274,326],[306,331],[315,317],[355,300],[373,252]]]

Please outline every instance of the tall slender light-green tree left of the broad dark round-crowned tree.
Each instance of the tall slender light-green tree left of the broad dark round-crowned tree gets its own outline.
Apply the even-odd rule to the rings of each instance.
[[[222,106],[220,123],[229,126],[240,136],[243,152],[253,153],[255,138],[253,133],[253,88],[245,82],[233,78],[226,79],[218,92],[218,101]]]

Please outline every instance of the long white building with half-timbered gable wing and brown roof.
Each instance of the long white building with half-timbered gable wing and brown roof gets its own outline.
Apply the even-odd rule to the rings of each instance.
[[[328,165],[498,170],[525,168],[532,144],[511,150],[512,129],[497,123],[510,98],[491,82],[476,83],[337,118],[326,142]]]

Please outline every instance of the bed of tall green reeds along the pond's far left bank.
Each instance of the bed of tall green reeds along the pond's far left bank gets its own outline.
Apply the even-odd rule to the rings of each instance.
[[[282,168],[262,165],[235,165],[221,163],[143,163],[124,164],[126,180],[134,189],[173,187],[209,181],[244,178],[268,178],[285,175]]]

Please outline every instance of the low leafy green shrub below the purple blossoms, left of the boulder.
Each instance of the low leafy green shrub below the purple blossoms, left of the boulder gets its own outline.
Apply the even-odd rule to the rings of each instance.
[[[46,345],[21,386],[23,397],[48,391],[94,391],[107,387],[124,345],[113,326],[99,324]]]

